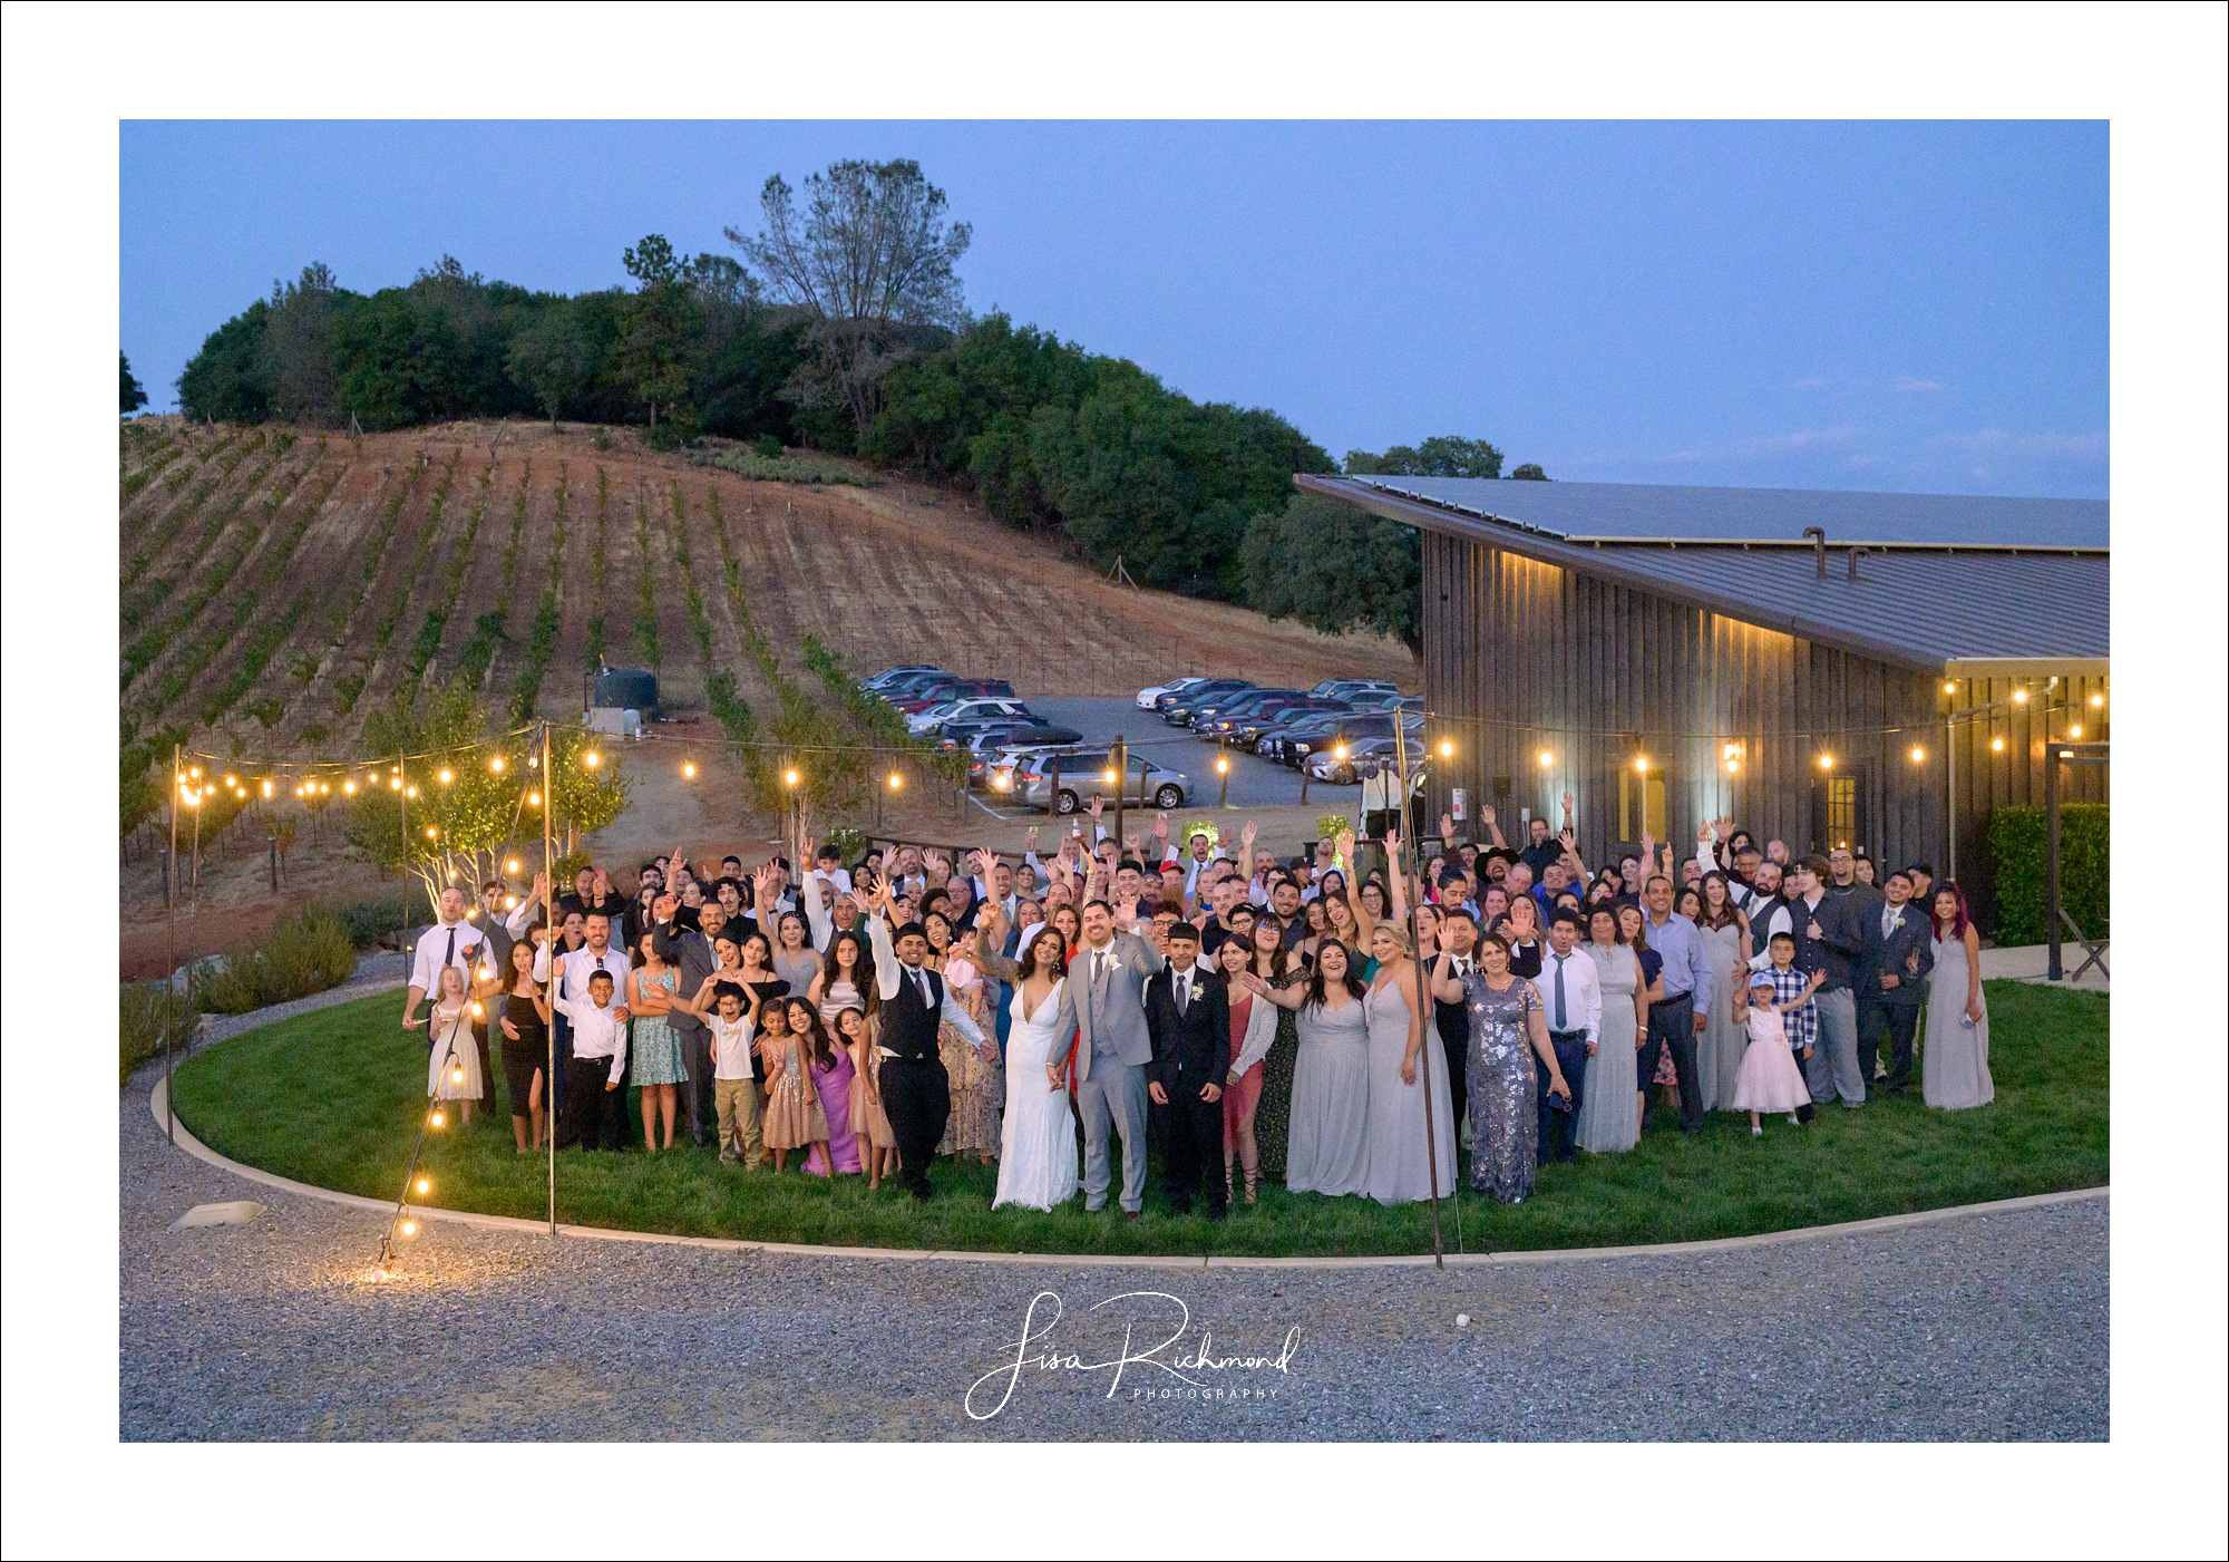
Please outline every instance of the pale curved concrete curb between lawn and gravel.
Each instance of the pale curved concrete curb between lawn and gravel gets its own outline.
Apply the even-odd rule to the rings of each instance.
[[[154,1082],[147,1096],[147,1107],[154,1113],[154,1127],[163,1131],[163,1102],[165,1084]],[[341,1194],[330,1187],[314,1187],[312,1183],[296,1183],[292,1178],[276,1176],[274,1172],[263,1172],[259,1167],[241,1165],[227,1156],[216,1154],[207,1145],[187,1131],[185,1122],[178,1122],[178,1149],[203,1160],[218,1172],[230,1172],[232,1176],[247,1178],[250,1183],[261,1183],[263,1187],[276,1187],[288,1194],[301,1194],[303,1198],[319,1198],[328,1205],[343,1205],[348,1209],[366,1209],[372,1214],[388,1214],[395,1205],[386,1198],[366,1198],[363,1194]],[[2113,1189],[2106,1187],[2077,1187],[2064,1194],[2028,1194],[2024,1198],[1997,1198],[1982,1205],[1950,1205],[1948,1209],[1915,1209],[1912,1214],[1888,1214],[1872,1221],[1843,1221],[1839,1225],[1803,1225],[1792,1232],[1759,1232],[1754,1236],[1716,1236],[1698,1243],[1647,1243],[1636,1247],[1549,1247],[1536,1252],[1471,1252],[1471,1254],[1447,1254],[1449,1267],[1487,1267],[1507,1263],[1583,1263],[1596,1259],[1690,1259],[1719,1252],[1741,1252],[1743,1247],[1777,1247],[1781,1243],[1810,1243],[1828,1241],[1834,1236],[1866,1236],[1870,1232],[1899,1232],[1912,1225],[1935,1225],[1937,1221],[1964,1221],[1970,1216],[1990,1214],[2015,1214],[2019,1209],[2042,1209],[2048,1205],[2080,1203],[2086,1198],[2111,1198]],[[517,1234],[546,1234],[548,1221],[522,1221],[508,1214],[473,1214],[470,1209],[432,1209],[426,1205],[410,1205],[410,1214],[419,1221],[446,1221],[450,1225],[468,1225],[484,1232],[517,1232]],[[1215,1256],[1201,1254],[1197,1259],[1181,1254],[1032,1254],[1032,1252],[965,1252],[965,1250],[936,1250],[936,1247],[820,1247],[811,1243],[753,1243],[736,1236],[671,1236],[664,1232],[617,1232],[602,1225],[559,1225],[559,1236],[582,1236],[591,1241],[606,1243],[658,1243],[666,1247],[709,1247],[713,1252],[767,1252],[796,1259],[874,1259],[885,1263],[1025,1263],[1025,1265],[1065,1265],[1065,1267],[1123,1267],[1123,1270],[1413,1270],[1429,1267],[1431,1254],[1393,1254],[1382,1259],[1253,1259],[1253,1256]]]

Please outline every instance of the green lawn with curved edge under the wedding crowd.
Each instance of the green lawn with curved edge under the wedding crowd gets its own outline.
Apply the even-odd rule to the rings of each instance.
[[[2109,1000],[1993,982],[1990,1071],[1997,1100],[1979,1111],[1928,1111],[1917,1091],[1863,1111],[1828,1107],[1810,1129],[1785,1118],[1752,1140],[1748,1120],[1712,1113],[1687,1138],[1654,1120],[1627,1156],[1547,1167],[1516,1207],[1462,1196],[1469,1252],[1596,1247],[1743,1236],[1799,1225],[2095,1187],[2109,1180]],[[214,1149],[281,1176],[392,1198],[424,1111],[426,1044],[397,1029],[395,993],[221,1042],[176,1078],[181,1120]],[[497,1062],[497,1067],[502,1067]],[[504,1100],[499,1096],[499,1100]],[[508,1109],[506,1109],[508,1111]],[[633,1120],[640,1127],[640,1118]],[[916,1205],[894,1183],[722,1167],[711,1151],[557,1156],[557,1218],[687,1236],[878,1247],[974,1247],[1106,1254],[1413,1254],[1431,1252],[1429,1205],[1386,1209],[1262,1187],[1217,1227],[1164,1212],[1157,1174],[1146,1218],[992,1212],[994,1169],[938,1160],[936,1201]],[[426,1203],[539,1218],[546,1158],[513,1151],[510,1118],[479,1116],[428,1140]],[[1447,1250],[1456,1207],[1442,1201]]]

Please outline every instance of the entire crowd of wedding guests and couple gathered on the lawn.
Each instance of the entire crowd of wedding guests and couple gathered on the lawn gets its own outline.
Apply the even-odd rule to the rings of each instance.
[[[1041,855],[811,839],[640,864],[629,888],[490,879],[424,928],[403,1026],[437,1109],[510,1096],[515,1149],[680,1138],[740,1169],[929,1198],[936,1156],[994,1205],[1224,1218],[1262,1180],[1398,1205],[1634,1149],[1705,1113],[1808,1125],[1868,1091],[1993,1098],[1979,939],[1926,864],[1794,857],[1727,819],[1694,852],[1583,861],[1527,821],[1409,852],[1395,832],[1262,850],[1110,839]],[[544,915],[548,908],[548,915]],[[1924,1024],[1924,1031],[1921,1031]],[[490,1051],[493,1049],[493,1051]],[[1652,1100],[1658,1111],[1652,1116]]]

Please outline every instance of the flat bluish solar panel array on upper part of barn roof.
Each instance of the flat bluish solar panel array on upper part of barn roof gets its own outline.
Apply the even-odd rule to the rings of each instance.
[[[2106,547],[2106,500],[2002,500],[1955,493],[1678,489],[1649,482],[1496,482],[1355,478],[1464,515],[1560,542],[1788,542],[1872,547]]]

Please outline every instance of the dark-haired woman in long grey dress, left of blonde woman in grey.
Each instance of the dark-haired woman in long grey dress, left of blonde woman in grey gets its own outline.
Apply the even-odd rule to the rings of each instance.
[[[1369,1185],[1371,1033],[1369,989],[1346,944],[1324,937],[1306,986],[1271,986],[1246,973],[1255,997],[1297,1011],[1293,1127],[1284,1185],[1295,1194],[1360,1194]]]

